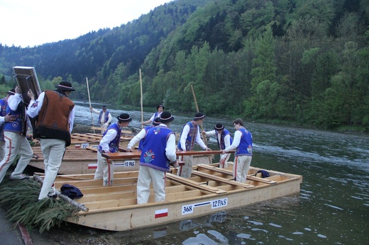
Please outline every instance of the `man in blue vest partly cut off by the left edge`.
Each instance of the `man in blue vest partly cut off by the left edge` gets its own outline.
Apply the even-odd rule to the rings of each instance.
[[[16,94],[15,89],[11,89],[6,92],[6,97],[1,98],[0,100],[0,161],[4,158],[5,154],[4,123],[13,122],[16,120],[15,115],[6,113],[6,108],[8,108],[8,99],[14,94]]]

